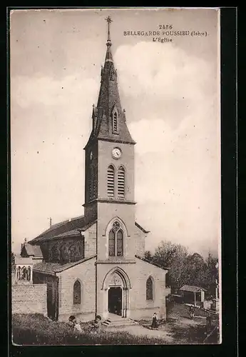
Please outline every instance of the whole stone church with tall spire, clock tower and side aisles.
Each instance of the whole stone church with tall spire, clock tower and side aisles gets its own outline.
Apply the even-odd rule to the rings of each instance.
[[[121,107],[109,16],[107,23],[101,88],[84,148],[84,216],[51,225],[21,250],[33,260],[33,283],[47,286],[48,316],[59,321],[71,315],[81,321],[111,314],[138,319],[154,312],[165,318],[170,292],[167,268],[144,258],[148,231],[135,221],[136,143]]]

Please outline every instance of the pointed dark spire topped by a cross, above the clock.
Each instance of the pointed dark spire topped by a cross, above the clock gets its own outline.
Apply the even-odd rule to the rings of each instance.
[[[125,123],[125,111],[121,107],[118,92],[117,71],[111,53],[111,17],[108,16],[106,21],[108,25],[106,57],[104,66],[101,67],[101,88],[97,106],[93,107],[91,136],[86,146],[97,139],[135,144]]]

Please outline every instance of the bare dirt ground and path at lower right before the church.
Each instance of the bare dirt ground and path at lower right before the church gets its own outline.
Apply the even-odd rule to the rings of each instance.
[[[109,331],[127,331],[135,336],[151,336],[163,339],[163,344],[217,343],[215,333],[207,338],[206,317],[195,314],[190,319],[188,307],[174,304],[168,308],[167,321],[160,323],[158,330],[150,328],[151,321],[139,321],[134,326],[108,327]],[[213,321],[211,331],[216,328]],[[206,339],[207,338],[207,339]],[[205,340],[206,339],[206,340]]]

